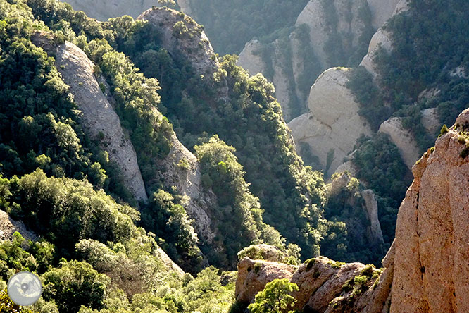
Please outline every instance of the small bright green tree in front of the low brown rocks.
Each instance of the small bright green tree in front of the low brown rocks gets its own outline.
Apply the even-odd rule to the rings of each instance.
[[[291,293],[298,291],[296,283],[290,283],[287,278],[274,279],[264,290],[256,295],[256,302],[249,305],[252,313],[281,313],[291,308],[296,300]],[[293,311],[288,311],[293,312]]]

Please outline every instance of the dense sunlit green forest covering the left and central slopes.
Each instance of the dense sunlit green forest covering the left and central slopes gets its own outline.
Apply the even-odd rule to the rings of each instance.
[[[191,18],[158,10],[178,19],[171,27],[181,41],[200,35]],[[296,155],[273,86],[231,55],[203,78],[161,36],[158,25],[130,17],[99,23],[53,0],[0,0],[0,208],[39,236],[1,243],[1,285],[15,271],[37,273],[37,312],[226,312],[234,280],[223,270],[235,269],[249,245],[275,245],[293,264],[319,255],[322,242],[340,247],[325,249],[330,257],[379,262],[382,252],[353,242],[346,217],[328,209],[342,204]],[[103,138],[89,137],[55,63],[65,41],[85,51],[110,92],[148,202],[126,187]],[[175,135],[194,152],[204,192],[215,195],[211,243],[161,173]]]

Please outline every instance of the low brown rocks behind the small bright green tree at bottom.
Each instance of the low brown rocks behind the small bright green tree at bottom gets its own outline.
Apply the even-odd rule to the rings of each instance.
[[[389,269],[392,268],[387,263]],[[375,273],[373,275],[373,273]],[[384,272],[379,283],[380,271],[361,263],[339,264],[325,257],[308,260],[301,266],[242,259],[238,264],[236,282],[237,302],[254,302],[256,294],[274,279],[287,278],[296,283],[299,291],[292,294],[296,299],[294,309],[303,312],[367,312],[381,313],[383,303],[389,297],[389,271]],[[366,276],[367,281],[354,292],[344,285],[356,276]],[[375,283],[376,282],[376,283]],[[354,293],[354,295],[352,295]]]

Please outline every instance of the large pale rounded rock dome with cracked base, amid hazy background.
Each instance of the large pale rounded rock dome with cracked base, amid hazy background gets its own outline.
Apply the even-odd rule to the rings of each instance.
[[[343,163],[361,134],[371,134],[346,87],[348,71],[348,68],[330,68],[321,74],[309,94],[311,112],[288,123],[296,145],[306,142],[312,154],[320,159],[321,166],[329,166],[328,173],[334,173]]]

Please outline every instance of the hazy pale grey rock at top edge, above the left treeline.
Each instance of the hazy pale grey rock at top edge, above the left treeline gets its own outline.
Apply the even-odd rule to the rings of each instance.
[[[159,6],[156,0],[65,0],[75,11],[83,11],[90,18],[108,20],[118,16],[137,18],[140,13]]]

